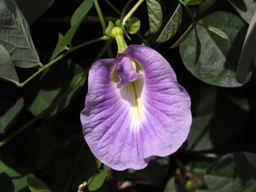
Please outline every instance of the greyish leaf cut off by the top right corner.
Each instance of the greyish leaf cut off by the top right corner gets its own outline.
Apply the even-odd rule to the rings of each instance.
[[[247,22],[250,23],[253,18],[254,13],[256,12],[256,1],[255,0],[229,0],[231,5],[236,9],[241,17]]]

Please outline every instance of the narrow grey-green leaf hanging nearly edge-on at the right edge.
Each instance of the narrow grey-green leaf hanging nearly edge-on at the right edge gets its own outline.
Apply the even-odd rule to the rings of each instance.
[[[240,83],[244,83],[246,75],[251,67],[253,58],[256,55],[256,12],[250,22],[245,40],[244,46],[240,55],[237,79]]]

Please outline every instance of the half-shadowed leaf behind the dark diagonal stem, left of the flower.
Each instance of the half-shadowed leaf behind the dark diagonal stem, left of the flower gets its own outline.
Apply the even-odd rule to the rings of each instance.
[[[70,59],[58,62],[62,62],[62,64],[51,67],[49,72],[44,76],[44,79],[41,80],[40,90],[29,106],[29,110],[35,116],[47,109],[56,99],[66,93],[70,86],[84,73],[84,70]],[[52,83],[52,79],[54,79],[54,83]],[[52,114],[56,114],[70,104],[72,98],[76,95],[84,81],[85,79],[67,96],[64,102],[58,105]]]

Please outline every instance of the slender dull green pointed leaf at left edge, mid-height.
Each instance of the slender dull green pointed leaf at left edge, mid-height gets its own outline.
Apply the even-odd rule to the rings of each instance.
[[[1,101],[3,101],[1,99]],[[20,97],[17,101],[3,114],[0,116],[0,134],[5,131],[14,123],[17,116],[20,114],[21,109],[24,105],[24,99]],[[3,108],[3,106],[1,106]]]

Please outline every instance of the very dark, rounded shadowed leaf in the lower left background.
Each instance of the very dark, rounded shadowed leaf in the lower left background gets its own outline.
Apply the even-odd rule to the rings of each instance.
[[[58,145],[58,137],[51,129],[38,128],[32,131],[26,142],[26,158],[37,170],[41,169],[52,157]]]

